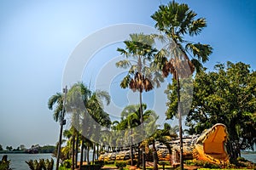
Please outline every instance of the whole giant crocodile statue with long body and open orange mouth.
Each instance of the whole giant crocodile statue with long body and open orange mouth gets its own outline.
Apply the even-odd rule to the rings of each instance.
[[[227,130],[224,124],[218,123],[211,128],[203,131],[200,135],[193,135],[183,137],[183,157],[184,159],[196,159],[209,161],[216,164],[224,164],[229,162],[229,155],[225,150],[225,142],[227,140]],[[179,163],[179,139],[169,142],[172,148],[170,154],[165,144],[156,144],[157,155],[159,161],[171,161],[172,165]],[[150,147],[149,147],[150,148]],[[124,152],[124,151],[123,151]],[[119,158],[119,155],[123,153],[120,151],[116,153],[116,156],[112,156],[112,153],[105,153],[100,156],[102,161],[114,161],[125,160],[125,158]],[[130,156],[130,152],[124,152],[124,156]],[[110,156],[110,155],[111,156]],[[135,154],[136,155],[136,154]],[[123,156],[123,157],[124,157]],[[111,157],[111,159],[110,159]],[[128,158],[127,157],[127,158]],[[130,159],[130,157],[128,158]]]

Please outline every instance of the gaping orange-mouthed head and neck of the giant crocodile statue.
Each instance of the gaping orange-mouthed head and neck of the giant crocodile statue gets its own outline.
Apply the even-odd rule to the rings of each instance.
[[[183,139],[184,159],[196,159],[209,161],[216,164],[229,162],[229,155],[225,149],[227,141],[227,129],[222,123],[217,123],[206,129],[200,135],[194,135]],[[176,143],[175,143],[176,141]],[[179,161],[179,142],[172,141],[172,163]]]

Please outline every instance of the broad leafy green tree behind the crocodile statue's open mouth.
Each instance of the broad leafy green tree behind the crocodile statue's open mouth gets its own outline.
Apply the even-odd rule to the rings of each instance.
[[[238,62],[215,65],[195,77],[194,100],[187,116],[189,133],[201,133],[215,123],[224,123],[230,158],[256,143],[256,72]],[[231,159],[232,161],[232,159]]]

